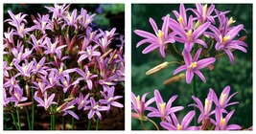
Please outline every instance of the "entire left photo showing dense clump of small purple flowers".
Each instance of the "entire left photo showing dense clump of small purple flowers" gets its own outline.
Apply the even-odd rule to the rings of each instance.
[[[4,4],[4,130],[125,130],[125,4]]]

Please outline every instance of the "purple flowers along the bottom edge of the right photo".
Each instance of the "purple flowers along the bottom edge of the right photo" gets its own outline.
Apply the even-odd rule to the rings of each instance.
[[[167,130],[240,130],[242,129],[240,125],[228,124],[235,110],[228,112],[225,108],[229,105],[239,103],[238,101],[229,102],[230,99],[237,94],[236,92],[229,96],[229,92],[230,86],[226,86],[218,100],[216,93],[210,88],[204,105],[197,97],[192,96],[192,99],[196,101],[196,103],[192,103],[189,106],[195,106],[199,110],[198,125],[190,125],[196,115],[195,110],[189,111],[181,122],[177,120],[175,112],[183,109],[183,106],[173,106],[177,95],[173,96],[166,103],[163,101],[158,90],[154,90],[154,97],[149,101],[146,101],[148,93],[144,94],[142,99],[140,99],[140,96],[135,97],[135,95],[131,93],[131,109],[135,111],[135,113],[132,113],[132,118],[141,120],[142,123],[151,121],[150,118],[152,117],[160,118],[160,125]],[[157,109],[151,106],[152,102],[155,102]],[[147,116],[144,115],[146,111],[150,112]],[[225,116],[223,116],[224,114]],[[151,123],[153,122],[151,121]],[[157,124],[155,125],[156,128],[158,128]]]

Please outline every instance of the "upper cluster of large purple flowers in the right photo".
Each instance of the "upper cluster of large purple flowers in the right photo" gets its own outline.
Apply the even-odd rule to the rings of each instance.
[[[244,36],[237,39],[238,33],[244,30],[244,25],[233,26],[236,21],[225,16],[229,11],[218,11],[213,4],[210,7],[207,4],[197,4],[196,7],[197,9],[185,9],[184,5],[180,4],[179,11],[173,11],[175,18],[171,18],[170,14],[163,16],[161,30],[150,18],[154,34],[134,31],[145,38],[139,41],[136,47],[150,43],[143,54],[151,53],[157,48],[163,57],[166,56],[166,51],[171,52],[177,62],[182,64],[175,70],[174,75],[186,70],[187,83],[191,83],[194,74],[205,82],[206,78],[199,70],[213,68],[213,63],[223,54],[226,54],[234,65],[232,52],[240,50],[246,53],[247,47]],[[187,12],[191,15],[187,16]],[[170,49],[171,46],[174,49]],[[178,50],[179,46],[182,46],[181,51]]]

